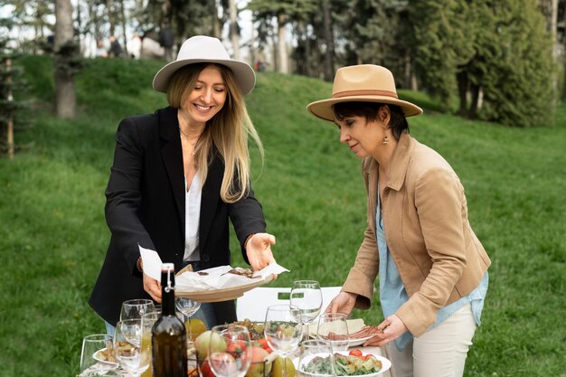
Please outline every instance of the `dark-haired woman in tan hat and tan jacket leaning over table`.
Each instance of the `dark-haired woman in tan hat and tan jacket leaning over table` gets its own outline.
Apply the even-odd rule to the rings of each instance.
[[[368,228],[327,312],[370,308],[379,275],[380,331],[396,377],[461,376],[487,291],[490,259],[467,219],[464,188],[448,162],[409,136],[422,110],[399,99],[377,65],[336,72],[331,99],[307,106],[335,122],[363,159]]]

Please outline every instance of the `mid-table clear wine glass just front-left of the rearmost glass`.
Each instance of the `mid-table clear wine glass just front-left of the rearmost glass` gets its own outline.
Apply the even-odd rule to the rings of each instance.
[[[303,337],[303,324],[297,306],[273,305],[268,307],[264,325],[265,338],[271,349],[285,358],[297,351]],[[287,362],[283,363],[283,377],[287,376]]]

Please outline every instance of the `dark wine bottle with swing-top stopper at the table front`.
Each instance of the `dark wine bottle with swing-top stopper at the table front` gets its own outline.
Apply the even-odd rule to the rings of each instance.
[[[151,329],[154,377],[187,376],[187,335],[184,323],[175,316],[175,265],[161,269],[161,317]]]

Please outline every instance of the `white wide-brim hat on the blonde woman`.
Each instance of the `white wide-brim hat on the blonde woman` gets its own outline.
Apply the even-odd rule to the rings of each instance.
[[[156,73],[153,82],[154,89],[165,93],[175,71],[185,65],[199,62],[222,64],[230,68],[234,72],[234,78],[242,95],[250,93],[256,84],[256,73],[250,64],[231,59],[218,38],[195,35],[184,41],[175,61],[166,64]]]

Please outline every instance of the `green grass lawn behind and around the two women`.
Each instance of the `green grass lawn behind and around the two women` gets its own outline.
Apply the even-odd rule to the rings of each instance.
[[[51,62],[29,57],[24,65],[34,126],[15,136],[26,149],[0,159],[0,376],[74,376],[82,337],[104,331],[87,300],[108,244],[114,133],[121,118],[165,106],[151,90],[161,64],[89,61],[72,121],[51,115]],[[360,161],[339,144],[336,127],[305,109],[330,92],[320,80],[268,73],[248,98],[266,149],[263,168],[252,155],[254,189],[278,240],[276,258],[291,270],[273,287],[299,278],[341,285],[363,237]],[[459,174],[493,261],[465,375],[565,376],[566,106],[554,126],[523,129],[440,114],[422,93],[404,94],[426,107],[410,118],[410,133]],[[243,266],[231,245],[232,264]],[[376,301],[354,316],[377,324],[380,313]]]

